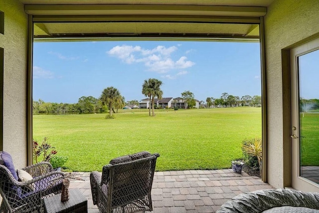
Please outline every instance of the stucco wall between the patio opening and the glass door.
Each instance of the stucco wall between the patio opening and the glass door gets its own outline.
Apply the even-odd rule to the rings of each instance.
[[[275,0],[265,16],[267,72],[268,182],[282,188],[289,185],[287,165],[290,147],[290,116],[286,109],[289,76],[282,72],[282,49],[291,48],[319,33],[318,0]],[[285,130],[286,129],[286,130]],[[284,171],[286,170],[286,173]],[[284,177],[286,176],[286,177]],[[284,181],[285,180],[285,181]],[[288,183],[288,184],[287,184]]]

